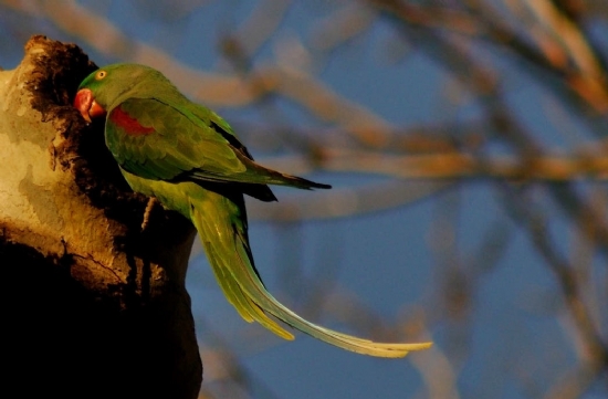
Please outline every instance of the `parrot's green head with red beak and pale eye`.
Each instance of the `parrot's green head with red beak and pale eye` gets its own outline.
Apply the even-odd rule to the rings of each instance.
[[[163,81],[167,78],[149,66],[107,65],[82,81],[74,98],[74,107],[86,122],[91,123],[91,118],[105,116],[125,98],[145,95]]]

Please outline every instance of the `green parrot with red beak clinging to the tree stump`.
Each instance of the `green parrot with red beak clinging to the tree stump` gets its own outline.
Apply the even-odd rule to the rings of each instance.
[[[137,64],[102,67],[81,83],[74,107],[88,123],[105,117],[107,148],[134,191],[195,224],[219,285],[247,322],[293,339],[271,314],[326,343],[379,357],[402,357],[431,345],[376,343],[337,333],[305,321],[266,291],[253,264],[243,195],[275,201],[266,185],[331,186],[254,162],[226,120],[189,101],[160,72]]]

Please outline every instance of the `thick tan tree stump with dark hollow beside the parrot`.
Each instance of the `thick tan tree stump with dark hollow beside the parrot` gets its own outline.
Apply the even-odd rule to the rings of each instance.
[[[32,38],[0,72],[3,390],[14,397],[196,398],[202,366],[184,286],[195,237],[130,191],[72,108],[95,69]]]

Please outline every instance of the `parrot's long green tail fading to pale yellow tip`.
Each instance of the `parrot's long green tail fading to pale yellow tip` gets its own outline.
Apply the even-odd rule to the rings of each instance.
[[[315,338],[344,349],[378,357],[403,357],[410,350],[429,348],[431,343],[375,343],[317,326],[276,301],[264,287],[249,248],[247,214],[241,193],[205,192],[190,199],[191,220],[207,258],[228,301],[249,323],[255,321],[285,339],[294,336],[264,312]]]

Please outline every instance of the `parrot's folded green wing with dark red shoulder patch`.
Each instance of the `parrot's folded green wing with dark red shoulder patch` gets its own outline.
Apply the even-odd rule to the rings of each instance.
[[[107,115],[106,145],[123,169],[146,179],[329,187],[255,164],[223,119],[191,102],[126,99]]]

